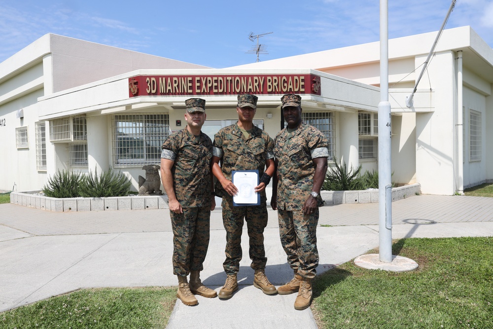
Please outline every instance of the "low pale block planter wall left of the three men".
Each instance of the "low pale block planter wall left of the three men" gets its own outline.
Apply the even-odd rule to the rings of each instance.
[[[12,192],[10,203],[56,212],[169,209],[166,195],[136,195],[109,198],[50,198],[39,191]]]

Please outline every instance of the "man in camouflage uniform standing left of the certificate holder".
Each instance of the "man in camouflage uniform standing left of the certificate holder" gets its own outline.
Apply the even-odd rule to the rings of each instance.
[[[178,276],[180,289],[190,273],[191,292],[215,297],[216,292],[204,287],[199,278],[209,246],[211,209],[215,207],[212,142],[200,130],[205,120],[205,100],[192,98],[185,104],[188,124],[164,141],[161,153],[161,178],[173,226],[173,273]],[[182,296],[178,297],[183,303],[197,304],[190,291],[181,290]]]

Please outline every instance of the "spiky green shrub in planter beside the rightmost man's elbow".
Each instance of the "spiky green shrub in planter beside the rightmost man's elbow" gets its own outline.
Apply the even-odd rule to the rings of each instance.
[[[365,189],[365,182],[360,177],[361,165],[355,170],[348,171],[346,163],[338,164],[335,161],[335,167],[329,168],[325,174],[325,181],[322,185],[323,190],[327,191],[353,191]],[[378,182],[378,181],[377,181]]]

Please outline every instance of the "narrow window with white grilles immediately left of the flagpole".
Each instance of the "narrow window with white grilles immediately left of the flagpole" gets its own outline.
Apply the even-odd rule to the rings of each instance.
[[[359,161],[378,159],[378,113],[358,112],[358,156]]]

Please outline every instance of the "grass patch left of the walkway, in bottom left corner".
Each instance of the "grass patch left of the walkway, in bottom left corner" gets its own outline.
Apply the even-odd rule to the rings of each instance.
[[[0,328],[165,328],[175,302],[176,288],[85,289],[0,313]]]

